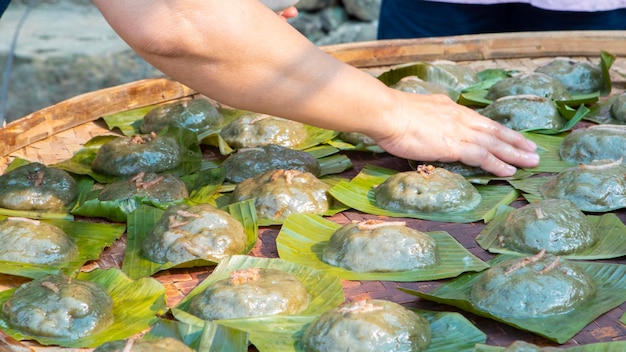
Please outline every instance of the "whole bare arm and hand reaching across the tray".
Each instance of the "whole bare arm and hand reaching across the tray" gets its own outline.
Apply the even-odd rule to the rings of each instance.
[[[94,3],[146,61],[221,103],[365,133],[410,160],[461,161],[498,176],[539,162],[521,134],[446,96],[386,87],[324,53],[257,0]]]

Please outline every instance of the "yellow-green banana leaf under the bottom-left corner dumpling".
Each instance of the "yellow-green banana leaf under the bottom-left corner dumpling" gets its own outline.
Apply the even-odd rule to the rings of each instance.
[[[61,347],[92,348],[105,342],[122,340],[138,334],[156,322],[156,316],[163,314],[165,288],[152,278],[137,281],[129,279],[118,269],[97,269],[89,273],[79,273],[78,280],[98,283],[109,292],[113,299],[113,323],[102,331],[79,339],[29,336],[12,329],[3,315],[0,315],[0,328],[17,340],[35,340],[42,345]],[[15,289],[0,292],[0,304],[4,304]]]

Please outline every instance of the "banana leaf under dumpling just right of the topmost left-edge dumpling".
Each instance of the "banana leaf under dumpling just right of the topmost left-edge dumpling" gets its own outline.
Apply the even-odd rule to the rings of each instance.
[[[190,190],[189,198],[192,203],[203,203],[204,199],[210,198],[217,192],[224,181],[223,169],[213,169],[195,172],[181,177],[187,189]],[[71,213],[87,217],[105,218],[114,222],[126,222],[128,214],[131,214],[140,205],[146,204],[160,209],[166,209],[170,205],[186,201],[184,198],[171,202],[157,202],[152,197],[135,196],[127,199],[102,201],[98,195],[102,189],[96,189],[79,196],[78,201]]]

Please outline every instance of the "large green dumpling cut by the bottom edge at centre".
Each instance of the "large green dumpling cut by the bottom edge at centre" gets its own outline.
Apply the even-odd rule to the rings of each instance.
[[[398,303],[369,299],[323,313],[305,328],[300,344],[306,352],[420,352],[430,341],[424,317]]]

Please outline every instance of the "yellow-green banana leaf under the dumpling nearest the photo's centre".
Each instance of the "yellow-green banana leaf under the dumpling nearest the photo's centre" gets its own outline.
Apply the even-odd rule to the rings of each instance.
[[[344,280],[415,282],[458,276],[467,271],[482,271],[488,266],[471,254],[445,231],[427,233],[437,243],[438,263],[434,266],[400,272],[354,272],[322,261],[324,246],[340,224],[321,216],[294,214],[287,217],[278,237],[278,256],[290,262],[332,274]]]

